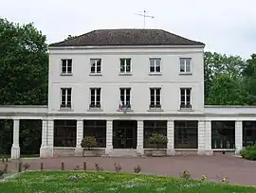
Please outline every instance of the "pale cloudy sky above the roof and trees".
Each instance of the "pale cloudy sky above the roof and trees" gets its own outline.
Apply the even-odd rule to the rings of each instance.
[[[162,28],[207,44],[206,50],[256,53],[256,0],[0,0],[0,16],[30,23],[47,42],[100,28]]]

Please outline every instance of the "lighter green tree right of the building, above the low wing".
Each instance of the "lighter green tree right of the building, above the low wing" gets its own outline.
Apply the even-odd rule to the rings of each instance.
[[[229,94],[237,92],[235,86],[241,86],[244,88],[244,76],[243,71],[246,66],[246,61],[244,61],[239,56],[227,56],[218,54],[216,52],[206,52],[205,53],[205,101],[206,104],[218,104],[219,101],[222,105],[234,105],[234,104],[244,104],[247,98],[246,92],[239,91],[243,94],[243,98],[234,98],[234,100],[228,101],[228,98],[223,98],[219,100],[218,95],[220,93],[224,94],[229,90]],[[227,82],[225,82],[227,81]],[[217,85],[214,85],[217,84]],[[227,88],[226,86],[229,86]],[[231,90],[233,89],[233,90]],[[214,92],[217,93],[214,93]],[[216,98],[215,98],[216,97]],[[231,98],[229,98],[231,99]]]

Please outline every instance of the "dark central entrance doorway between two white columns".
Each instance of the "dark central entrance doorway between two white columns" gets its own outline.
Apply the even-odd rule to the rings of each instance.
[[[114,120],[113,121],[113,148],[136,149],[137,148],[137,121]]]

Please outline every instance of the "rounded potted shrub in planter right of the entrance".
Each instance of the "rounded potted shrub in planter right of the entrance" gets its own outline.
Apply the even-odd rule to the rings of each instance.
[[[166,155],[165,149],[160,149],[160,145],[166,145],[168,143],[167,137],[162,133],[153,133],[149,138],[151,144],[155,144],[155,148],[152,151],[153,156],[164,156]]]

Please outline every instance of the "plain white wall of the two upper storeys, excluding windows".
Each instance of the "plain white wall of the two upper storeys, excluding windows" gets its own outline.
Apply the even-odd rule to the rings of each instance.
[[[120,74],[120,59],[131,59],[131,73]],[[150,58],[161,59],[161,72],[150,73]],[[180,58],[192,59],[192,72],[180,73]],[[72,75],[61,76],[62,60],[72,59]],[[90,73],[90,59],[101,59],[101,74]],[[119,88],[131,88],[133,114],[150,114],[150,88],[161,88],[161,114],[180,113],[179,89],[192,88],[192,111],[204,113],[203,47],[52,48],[48,111],[60,114],[61,88],[72,88],[71,114],[122,114]],[[101,88],[101,111],[90,112],[90,88]],[[143,96],[141,96],[143,95]]]

